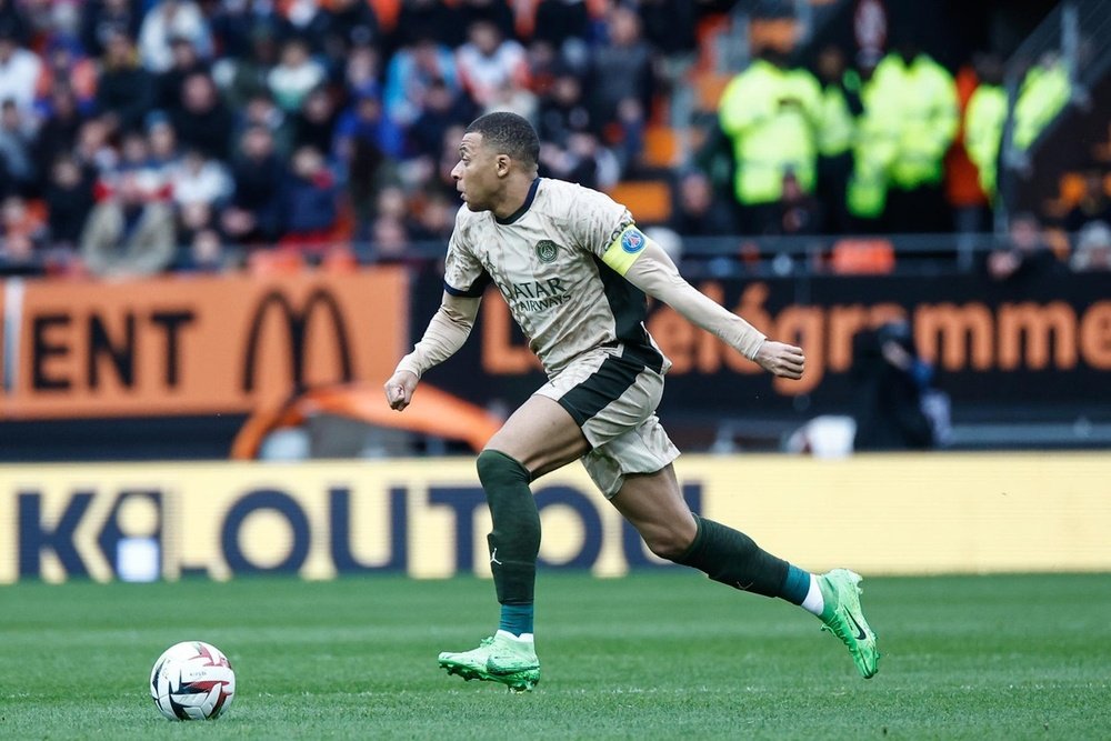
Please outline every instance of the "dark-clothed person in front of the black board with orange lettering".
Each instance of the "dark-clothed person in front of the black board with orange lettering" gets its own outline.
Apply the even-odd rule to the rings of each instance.
[[[924,450],[937,444],[934,425],[923,408],[933,369],[914,349],[910,326],[890,322],[853,338],[850,371],[860,387],[853,448]]]

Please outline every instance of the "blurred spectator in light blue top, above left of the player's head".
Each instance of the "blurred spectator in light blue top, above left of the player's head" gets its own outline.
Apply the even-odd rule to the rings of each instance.
[[[393,54],[387,66],[382,93],[387,114],[401,127],[410,126],[428,107],[433,86],[447,88],[452,96],[458,93],[456,58],[432,37],[421,36]]]

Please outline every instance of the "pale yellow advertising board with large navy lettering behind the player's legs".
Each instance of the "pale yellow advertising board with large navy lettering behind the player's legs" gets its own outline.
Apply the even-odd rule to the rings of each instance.
[[[1107,454],[691,455],[677,470],[694,510],[808,569],[1111,571]],[[533,492],[542,569],[670,568],[579,467]],[[489,530],[470,459],[0,468],[0,583],[487,575]]]

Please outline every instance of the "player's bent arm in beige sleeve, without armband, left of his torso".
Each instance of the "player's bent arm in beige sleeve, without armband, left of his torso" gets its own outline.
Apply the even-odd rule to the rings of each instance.
[[[412,352],[401,359],[393,375],[386,382],[386,400],[390,407],[398,411],[408,407],[424,371],[442,363],[463,347],[474,326],[481,300],[479,297],[453,296],[444,291],[440,308],[428,322],[424,337]]]

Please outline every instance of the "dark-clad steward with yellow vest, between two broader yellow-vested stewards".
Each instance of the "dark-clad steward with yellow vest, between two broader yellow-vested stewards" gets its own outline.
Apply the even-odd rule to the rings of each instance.
[[[821,84],[817,193],[825,214],[824,231],[843,234],[852,229],[845,184],[852,172],[857,117],[862,112],[860,78],[845,69],[844,54],[834,46],[819,52],[815,67]]]

